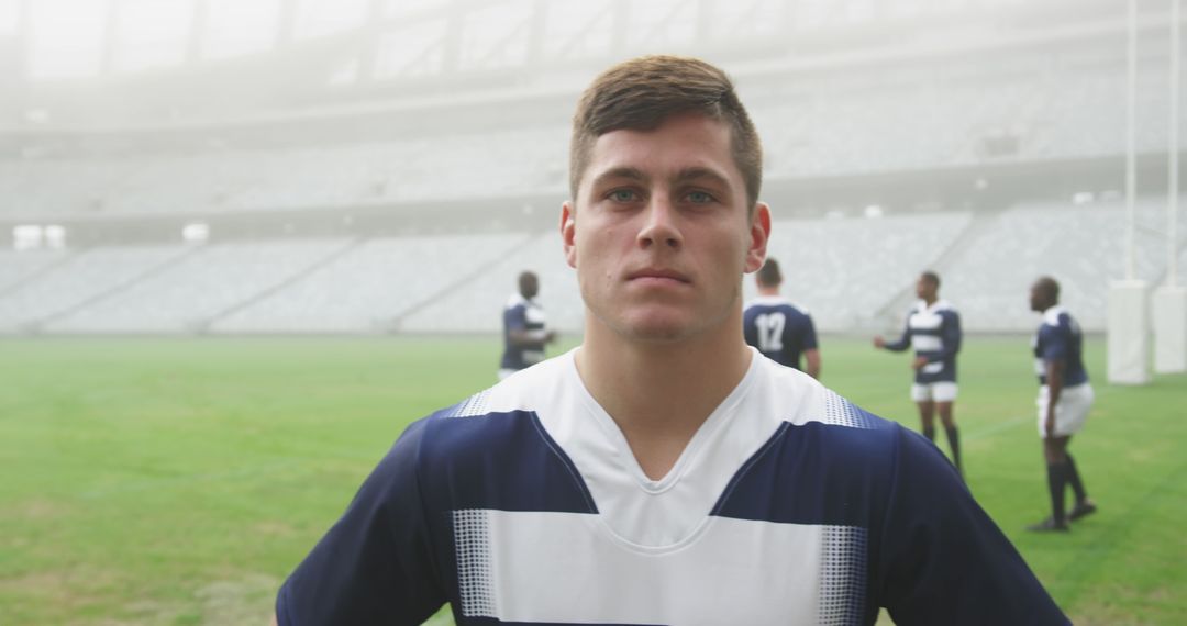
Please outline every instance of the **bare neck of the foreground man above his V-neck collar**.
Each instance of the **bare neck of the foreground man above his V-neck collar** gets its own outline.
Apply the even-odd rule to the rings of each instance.
[[[665,475],[750,366],[741,307],[716,330],[671,341],[624,337],[586,312],[577,370],[640,467]]]

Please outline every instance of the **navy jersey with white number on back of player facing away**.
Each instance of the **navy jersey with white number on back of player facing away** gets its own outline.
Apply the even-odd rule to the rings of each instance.
[[[745,343],[788,368],[800,370],[800,354],[817,349],[812,317],[786,298],[760,295],[742,313]]]

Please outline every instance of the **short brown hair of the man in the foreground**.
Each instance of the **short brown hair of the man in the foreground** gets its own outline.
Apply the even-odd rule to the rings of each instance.
[[[582,94],[569,146],[569,191],[573,200],[597,138],[612,130],[653,130],[680,113],[699,113],[729,124],[734,162],[742,172],[753,210],[762,186],[762,145],[734,83],[704,60],[661,55],[620,63],[602,72]]]

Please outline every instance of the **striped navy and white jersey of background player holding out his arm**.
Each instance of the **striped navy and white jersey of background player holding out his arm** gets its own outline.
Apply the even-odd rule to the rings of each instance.
[[[907,313],[902,337],[886,344],[887,350],[901,352],[912,347],[915,356],[925,357],[927,365],[915,370],[915,382],[957,382],[957,352],[960,351],[960,315],[945,300],[932,306],[920,300]]]

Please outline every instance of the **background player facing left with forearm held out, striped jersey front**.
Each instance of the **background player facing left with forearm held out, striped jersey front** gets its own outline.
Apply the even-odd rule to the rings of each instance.
[[[902,352],[915,350],[910,366],[915,370],[915,383],[910,385],[910,398],[919,407],[923,436],[935,441],[935,413],[940,414],[944,433],[948,436],[952,464],[964,475],[960,464],[960,432],[957,429],[952,405],[957,400],[957,352],[960,350],[960,315],[952,305],[939,299],[940,276],[934,272],[920,274],[915,281],[919,302],[907,313],[907,327],[897,341],[887,343],[881,336],[874,338],[874,346]]]

